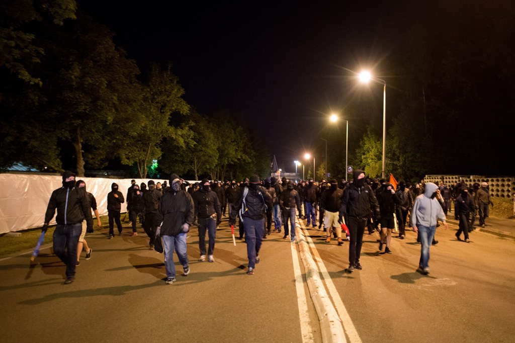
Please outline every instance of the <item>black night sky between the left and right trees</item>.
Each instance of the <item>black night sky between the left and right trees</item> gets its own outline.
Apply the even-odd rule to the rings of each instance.
[[[277,3],[83,0],[79,8],[110,27],[142,71],[171,61],[201,114],[226,109],[255,124],[292,171],[304,151],[321,149],[326,116],[349,101],[372,101],[381,125],[381,85],[356,95],[346,68],[390,75],[389,59],[433,2]]]

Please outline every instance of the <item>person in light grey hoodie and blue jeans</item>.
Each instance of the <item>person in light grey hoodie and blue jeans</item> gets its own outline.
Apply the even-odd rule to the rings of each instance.
[[[445,222],[445,214],[436,199],[437,190],[436,184],[426,183],[424,193],[415,199],[413,209],[411,209],[411,226],[415,228],[415,232],[419,233],[422,243],[417,271],[424,275],[429,273],[429,248],[435,236],[437,220],[440,219],[445,228],[448,227]]]

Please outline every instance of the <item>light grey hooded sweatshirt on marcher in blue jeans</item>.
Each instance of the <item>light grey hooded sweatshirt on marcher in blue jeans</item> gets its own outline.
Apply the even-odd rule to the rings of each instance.
[[[425,184],[424,194],[415,199],[411,209],[411,226],[436,226],[438,218],[445,221],[445,214],[436,198],[431,199],[438,186],[432,182]]]

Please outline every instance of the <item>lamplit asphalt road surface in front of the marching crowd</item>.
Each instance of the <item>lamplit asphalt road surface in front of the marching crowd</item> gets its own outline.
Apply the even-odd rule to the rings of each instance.
[[[304,223],[298,243],[272,233],[261,263],[248,276],[246,247],[233,246],[224,221],[217,231],[215,263],[198,262],[198,237],[188,237],[191,273],[165,285],[162,255],[148,239],[88,237],[91,260],[81,260],[76,281],[63,285],[64,265],[42,250],[0,260],[0,337],[3,342],[56,341],[322,341],[316,306],[307,287],[299,247],[317,261],[327,299],[348,341],[513,341],[515,240],[472,232],[455,239],[455,225],[437,229],[431,274],[418,266],[414,232],[392,239],[393,254],[377,250],[377,234],[365,234],[363,270],[346,274],[348,242],[325,244],[322,231]],[[177,258],[175,258],[177,261]],[[308,278],[311,272],[307,273]],[[323,317],[323,314],[321,315]]]

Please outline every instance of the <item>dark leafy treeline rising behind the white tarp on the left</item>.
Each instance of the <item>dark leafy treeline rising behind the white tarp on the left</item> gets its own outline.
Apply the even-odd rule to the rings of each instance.
[[[78,176],[113,160],[142,178],[155,160],[184,178],[268,173],[267,150],[237,116],[197,113],[170,64],[140,73],[74,0],[0,7],[1,169],[62,171],[73,151]]]

